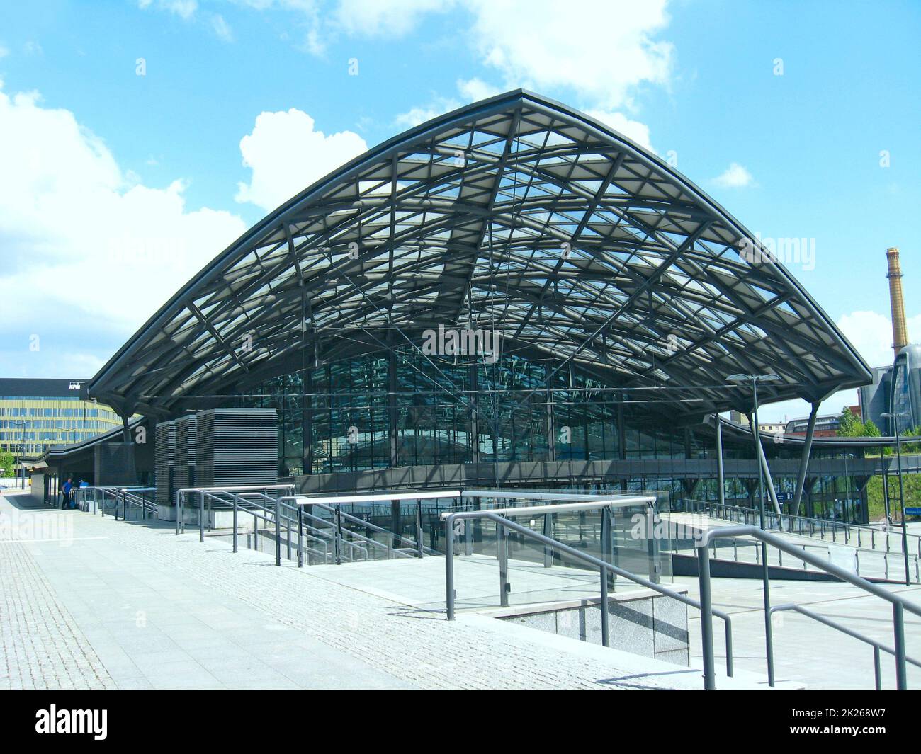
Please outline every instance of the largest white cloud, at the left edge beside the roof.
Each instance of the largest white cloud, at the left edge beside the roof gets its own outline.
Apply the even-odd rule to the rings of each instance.
[[[39,335],[62,363],[76,342],[108,358],[246,229],[237,215],[189,211],[182,180],[131,182],[72,112],[43,108],[34,93],[0,91],[0,164],[0,324],[25,353]]]

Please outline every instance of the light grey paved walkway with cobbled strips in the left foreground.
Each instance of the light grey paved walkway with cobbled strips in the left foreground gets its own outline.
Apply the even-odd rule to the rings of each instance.
[[[698,669],[483,616],[445,621],[197,532],[25,500],[0,498],[0,688],[702,685]]]

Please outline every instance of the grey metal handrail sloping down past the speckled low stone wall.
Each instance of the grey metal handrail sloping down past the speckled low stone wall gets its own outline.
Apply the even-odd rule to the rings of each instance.
[[[558,506],[561,509],[565,509],[565,505]],[[513,531],[518,531],[520,534],[525,537],[530,537],[530,539],[536,539],[541,542],[545,547],[552,548],[559,552],[564,552],[569,555],[571,558],[582,561],[583,563],[589,563],[594,565],[600,571],[600,598],[599,605],[601,609],[601,644],[604,646],[611,645],[610,639],[610,628],[608,621],[608,574],[616,574],[624,577],[628,581],[632,581],[635,584],[640,586],[645,586],[647,589],[652,589],[659,594],[666,597],[671,597],[672,599],[677,599],[679,602],[682,602],[685,605],[690,605],[693,608],[701,610],[703,613],[704,606],[703,602],[698,602],[693,597],[688,597],[687,595],[682,595],[680,592],[676,592],[673,589],[668,588],[667,586],[661,586],[656,584],[653,581],[650,581],[643,576],[632,574],[629,571],[625,571],[619,566],[613,565],[612,563],[605,563],[596,558],[593,555],[589,555],[586,552],[578,551],[575,548],[569,547],[569,545],[564,544],[557,539],[552,539],[550,537],[545,537],[542,534],[538,534],[536,531],[533,531],[530,528],[521,526],[520,524],[512,521],[509,518],[504,516],[499,516],[492,511],[464,511],[457,513],[446,513],[442,514],[442,519],[445,522],[445,611],[449,621],[454,620],[454,521],[457,519],[466,519],[466,518],[488,518],[492,521],[495,521],[500,528],[510,528]],[[499,541],[504,543],[504,533],[500,530]],[[500,590],[505,593],[505,572],[507,565],[505,563],[504,555],[505,548],[499,547],[499,579],[500,579]],[[714,609],[711,606],[708,606],[710,615],[716,615],[717,618],[723,619],[726,624],[726,675],[732,676],[732,621],[729,618],[729,615],[722,610]],[[712,628],[712,626],[711,626]],[[712,650],[713,646],[711,643],[711,659],[712,659]]]

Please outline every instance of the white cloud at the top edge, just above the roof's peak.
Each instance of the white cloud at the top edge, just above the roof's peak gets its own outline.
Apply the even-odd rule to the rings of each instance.
[[[665,0],[473,0],[472,37],[506,88],[563,87],[609,110],[632,104],[635,87],[667,85],[674,57],[656,35]]]

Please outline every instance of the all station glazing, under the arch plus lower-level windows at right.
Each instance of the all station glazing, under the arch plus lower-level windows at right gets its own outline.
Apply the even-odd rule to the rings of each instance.
[[[495,364],[455,362],[406,347],[392,356],[367,354],[315,366],[306,379],[301,371],[275,377],[236,400],[279,412],[284,477],[475,462],[716,458],[712,428],[675,426],[650,391],[614,389],[577,366],[553,374],[557,364],[518,354],[505,354]],[[801,446],[765,442],[764,452],[772,461],[798,461]],[[723,456],[751,460],[751,438],[724,433]],[[846,454],[862,456],[859,448]],[[838,448],[814,445],[811,458],[843,456]],[[792,500],[796,480],[775,474],[774,481],[779,500]],[[661,474],[560,478],[554,488],[659,490],[678,507],[684,497],[718,500],[716,479],[685,486]],[[755,485],[727,476],[725,499],[753,507]],[[860,480],[846,475],[816,480],[804,495],[816,516],[850,520],[857,520],[865,500]]]

